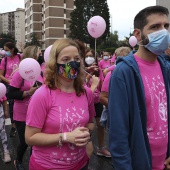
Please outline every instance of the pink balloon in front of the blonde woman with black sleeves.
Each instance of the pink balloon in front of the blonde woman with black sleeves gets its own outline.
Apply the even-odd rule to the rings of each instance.
[[[19,73],[27,81],[36,81],[41,73],[40,64],[33,58],[26,58],[19,64]]]

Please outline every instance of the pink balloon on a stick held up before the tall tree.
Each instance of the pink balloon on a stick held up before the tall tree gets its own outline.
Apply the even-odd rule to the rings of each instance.
[[[94,16],[88,21],[87,30],[93,38],[99,38],[106,30],[106,22],[102,17]]]

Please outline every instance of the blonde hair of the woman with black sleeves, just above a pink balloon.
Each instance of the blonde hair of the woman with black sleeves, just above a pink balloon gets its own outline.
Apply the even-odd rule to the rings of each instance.
[[[26,47],[23,51],[22,60],[25,58],[33,58],[33,59],[37,60],[38,55],[39,55],[39,50],[40,50],[40,47],[35,46],[35,45]]]

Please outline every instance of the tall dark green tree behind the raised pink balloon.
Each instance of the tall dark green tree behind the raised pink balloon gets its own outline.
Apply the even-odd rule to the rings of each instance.
[[[72,39],[79,39],[82,42],[90,44],[94,48],[95,39],[87,31],[87,22],[93,16],[99,15],[106,21],[105,33],[97,39],[97,43],[103,42],[109,37],[110,15],[107,0],[75,0],[74,9],[70,16],[70,35]]]

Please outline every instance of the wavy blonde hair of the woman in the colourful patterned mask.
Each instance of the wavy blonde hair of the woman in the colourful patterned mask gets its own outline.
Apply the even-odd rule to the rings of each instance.
[[[60,82],[58,81],[59,74],[57,73],[57,58],[59,53],[68,46],[74,46],[77,48],[79,54],[81,53],[79,45],[71,39],[60,39],[54,42],[51,51],[49,60],[46,63],[46,74],[45,74],[45,84],[50,89],[56,89],[60,87]],[[82,62],[80,62],[80,69],[77,77],[74,79],[74,89],[76,95],[80,96],[81,93],[84,93],[84,73],[82,69]]]

